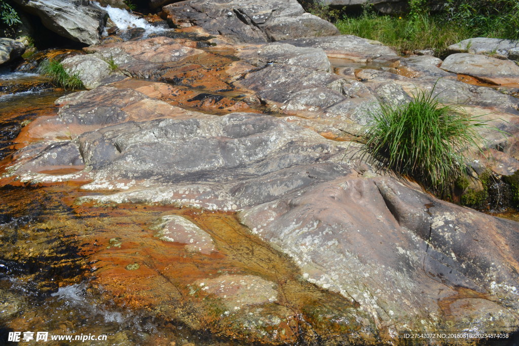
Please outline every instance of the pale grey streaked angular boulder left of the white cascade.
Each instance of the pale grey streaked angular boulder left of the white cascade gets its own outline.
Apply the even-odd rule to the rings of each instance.
[[[88,0],[14,0],[38,16],[45,27],[63,37],[86,45],[99,43],[106,12]]]

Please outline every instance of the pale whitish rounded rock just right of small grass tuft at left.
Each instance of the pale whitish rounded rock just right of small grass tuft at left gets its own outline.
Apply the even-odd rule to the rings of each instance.
[[[62,61],[69,75],[77,74],[87,89],[101,85],[101,80],[112,72],[110,65],[92,54],[79,55]]]

